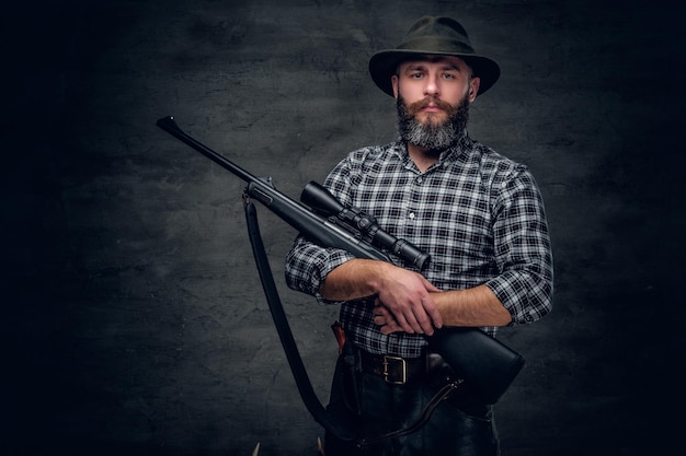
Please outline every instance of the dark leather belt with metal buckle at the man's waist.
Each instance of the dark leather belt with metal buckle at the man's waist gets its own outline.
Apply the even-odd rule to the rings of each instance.
[[[415,383],[426,374],[426,356],[401,358],[359,350],[363,372],[377,375],[393,385]]]

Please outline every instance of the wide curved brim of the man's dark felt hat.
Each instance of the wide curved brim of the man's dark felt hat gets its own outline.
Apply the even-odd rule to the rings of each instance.
[[[380,50],[369,59],[369,74],[376,85],[384,92],[393,96],[393,85],[391,77],[396,74],[398,66],[405,60],[411,60],[419,56],[453,56],[459,57],[471,67],[475,77],[480,78],[478,95],[482,95],[495,84],[500,78],[500,66],[488,57],[475,54],[459,52],[436,52],[435,50]]]

